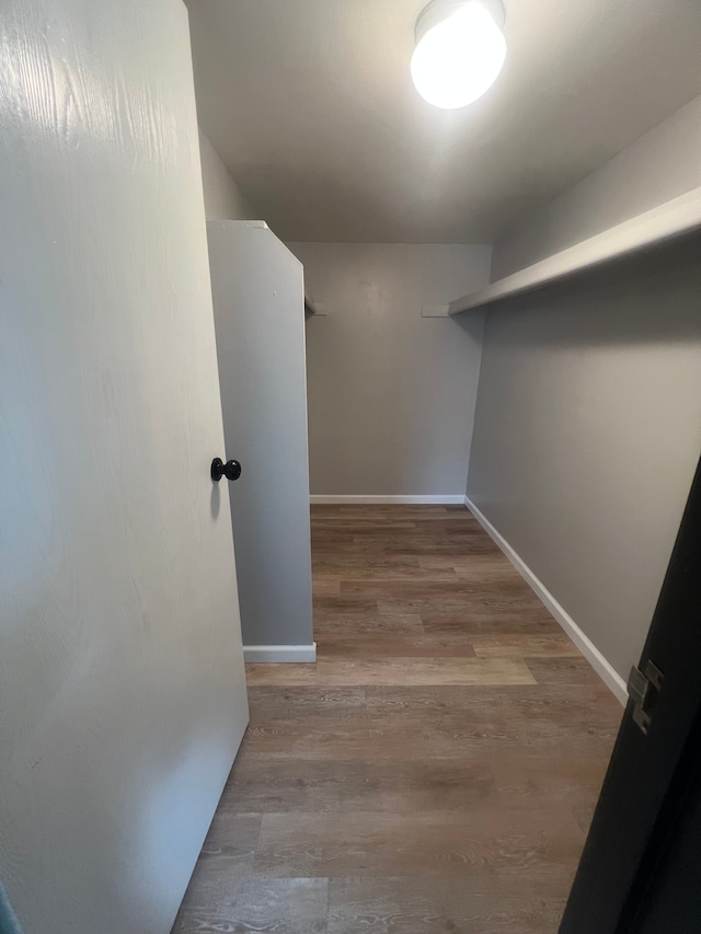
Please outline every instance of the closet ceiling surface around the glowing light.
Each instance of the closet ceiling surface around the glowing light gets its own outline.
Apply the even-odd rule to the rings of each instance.
[[[701,0],[506,0],[487,94],[439,111],[425,0],[186,0],[199,120],[284,240],[490,242],[701,93]]]

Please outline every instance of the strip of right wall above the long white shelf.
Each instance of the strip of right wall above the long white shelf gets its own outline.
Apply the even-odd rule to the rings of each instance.
[[[701,186],[701,96],[494,244],[492,280]]]

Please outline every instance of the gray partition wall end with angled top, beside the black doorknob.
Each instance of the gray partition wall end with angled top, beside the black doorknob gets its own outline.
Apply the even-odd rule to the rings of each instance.
[[[311,646],[302,269],[260,222],[207,239],[243,644]]]

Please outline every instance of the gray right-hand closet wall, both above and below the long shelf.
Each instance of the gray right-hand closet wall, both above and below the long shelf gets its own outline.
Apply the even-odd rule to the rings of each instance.
[[[497,243],[496,275],[701,184],[700,103]],[[622,677],[701,449],[700,295],[697,235],[486,318],[468,495]]]

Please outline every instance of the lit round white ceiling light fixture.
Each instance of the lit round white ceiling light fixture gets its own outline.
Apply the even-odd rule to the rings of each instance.
[[[464,107],[481,97],[506,57],[502,0],[432,0],[416,20],[412,78],[436,107]]]

